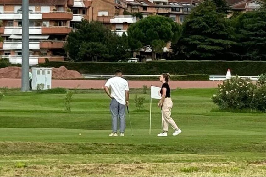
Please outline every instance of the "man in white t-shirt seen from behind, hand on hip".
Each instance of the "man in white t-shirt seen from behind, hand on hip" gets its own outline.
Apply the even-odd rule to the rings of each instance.
[[[109,88],[111,87],[111,94]],[[122,78],[122,71],[116,70],[115,76],[108,79],[104,85],[106,94],[111,98],[110,111],[112,114],[112,133],[109,136],[117,135],[117,121],[120,120],[120,136],[125,132],[125,107],[128,106],[129,88],[128,82]]]

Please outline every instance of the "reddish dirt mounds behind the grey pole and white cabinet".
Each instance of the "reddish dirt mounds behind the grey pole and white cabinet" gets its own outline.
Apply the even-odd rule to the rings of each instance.
[[[30,69],[31,71],[31,69]],[[21,78],[21,67],[10,66],[0,68],[0,78]],[[66,67],[52,67],[52,79],[80,79],[83,76],[74,70],[68,70]]]

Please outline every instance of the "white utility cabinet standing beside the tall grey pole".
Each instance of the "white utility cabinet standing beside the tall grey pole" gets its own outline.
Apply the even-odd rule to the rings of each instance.
[[[31,68],[32,90],[46,90],[52,88],[52,68]]]

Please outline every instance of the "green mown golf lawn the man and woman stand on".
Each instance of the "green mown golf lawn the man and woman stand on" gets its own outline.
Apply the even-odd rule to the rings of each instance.
[[[1,89],[0,89],[1,91]],[[216,89],[172,91],[177,137],[157,137],[161,112],[149,93],[132,90],[125,137],[111,133],[103,91],[77,91],[71,112],[65,94],[2,90],[0,176],[264,176],[266,114],[213,111]],[[145,96],[137,112],[134,94]],[[79,135],[81,133],[81,135]]]

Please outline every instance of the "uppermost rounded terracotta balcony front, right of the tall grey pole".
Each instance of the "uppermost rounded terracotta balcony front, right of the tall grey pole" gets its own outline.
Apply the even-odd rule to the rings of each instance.
[[[48,12],[42,13],[43,20],[72,20],[73,14],[70,12]]]

